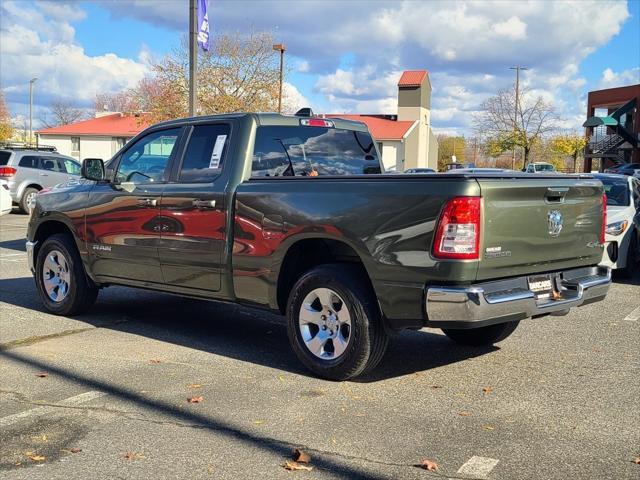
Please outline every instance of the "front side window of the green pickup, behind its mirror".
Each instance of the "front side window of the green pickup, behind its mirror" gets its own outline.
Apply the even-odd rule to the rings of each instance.
[[[116,181],[138,184],[164,181],[165,170],[181,130],[172,128],[153,132],[131,145],[122,154]]]

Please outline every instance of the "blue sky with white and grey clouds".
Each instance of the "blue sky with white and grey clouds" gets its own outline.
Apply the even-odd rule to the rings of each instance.
[[[640,0],[209,0],[211,33],[271,32],[285,91],[318,113],[396,113],[403,70],[429,71],[437,133],[471,133],[483,100],[514,82],[584,121],[587,92],[640,83]],[[0,0],[0,88],[34,124],[55,100],[91,108],[135,86],[188,30],[187,0]],[[276,54],[276,52],[274,52]]]

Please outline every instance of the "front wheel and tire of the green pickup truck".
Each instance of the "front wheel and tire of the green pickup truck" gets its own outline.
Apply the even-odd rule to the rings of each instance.
[[[98,288],[87,277],[73,238],[67,234],[58,233],[44,241],[38,250],[35,281],[45,308],[56,315],[81,313],[98,296]],[[56,286],[52,289],[52,285]]]

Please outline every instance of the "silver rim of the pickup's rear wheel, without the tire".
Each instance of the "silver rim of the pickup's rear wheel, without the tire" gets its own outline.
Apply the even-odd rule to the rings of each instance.
[[[307,349],[323,360],[335,360],[351,339],[351,315],[344,300],[329,288],[316,288],[302,302],[298,316]]]

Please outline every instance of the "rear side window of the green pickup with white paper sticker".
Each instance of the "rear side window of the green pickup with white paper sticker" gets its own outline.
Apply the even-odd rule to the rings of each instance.
[[[193,127],[184,153],[179,182],[210,182],[222,170],[229,144],[228,124]]]

